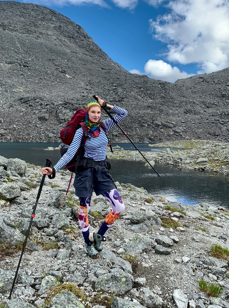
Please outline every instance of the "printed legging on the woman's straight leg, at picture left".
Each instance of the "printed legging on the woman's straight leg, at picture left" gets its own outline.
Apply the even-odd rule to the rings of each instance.
[[[79,198],[79,224],[82,231],[84,241],[89,243],[89,222],[88,222],[88,212],[91,206],[91,197]]]

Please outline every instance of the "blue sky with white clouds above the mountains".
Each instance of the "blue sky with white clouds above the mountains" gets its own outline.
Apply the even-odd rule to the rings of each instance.
[[[32,2],[78,23],[132,73],[174,82],[229,66],[229,0]]]

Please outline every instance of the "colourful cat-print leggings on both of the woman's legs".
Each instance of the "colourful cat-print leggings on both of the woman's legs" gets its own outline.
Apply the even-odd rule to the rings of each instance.
[[[120,214],[124,211],[124,203],[122,198],[119,196],[119,193],[116,189],[112,189],[102,194],[112,206],[112,210],[107,214],[102,226],[99,228],[98,233],[102,236],[108,230],[108,228],[115,222]],[[88,222],[88,213],[91,206],[91,197],[84,198],[79,197],[79,224],[82,234],[84,236],[84,241],[89,243],[89,222]]]

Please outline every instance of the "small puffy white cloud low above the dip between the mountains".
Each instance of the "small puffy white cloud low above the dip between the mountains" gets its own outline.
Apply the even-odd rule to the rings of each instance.
[[[148,75],[153,79],[160,79],[164,81],[175,82],[177,79],[187,78],[193,74],[181,72],[178,67],[172,67],[170,64],[162,60],[150,59],[145,64],[145,73],[141,73],[138,69],[132,69],[129,71],[132,74]]]

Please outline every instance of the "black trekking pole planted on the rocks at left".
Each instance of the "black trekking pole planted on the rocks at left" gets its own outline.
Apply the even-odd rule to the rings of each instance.
[[[51,160],[48,159],[48,158],[46,158],[45,167],[50,167],[50,165],[53,167],[53,165],[52,165],[52,163],[51,163]],[[50,179],[54,179],[55,175],[56,175],[56,171],[55,171],[55,169],[53,168],[53,175],[52,175],[52,176],[48,175],[48,177],[49,177]],[[33,211],[32,211],[32,215],[31,215],[31,219],[30,219],[28,231],[27,231],[27,234],[26,234],[24,243],[22,244],[22,245],[23,245],[23,248],[22,248],[21,256],[20,256],[20,259],[19,259],[18,267],[17,267],[16,273],[15,273],[15,276],[14,276],[14,281],[13,281],[12,288],[11,288],[11,290],[10,290],[10,295],[9,295],[8,299],[11,299],[11,294],[12,294],[13,289],[14,289],[14,285],[15,285],[15,281],[16,281],[16,278],[17,278],[17,274],[18,274],[18,270],[19,270],[20,263],[21,263],[22,255],[23,255],[23,252],[24,252],[24,250],[25,250],[25,246],[27,245],[27,239],[28,239],[29,231],[30,231],[30,228],[31,228],[31,225],[32,225],[32,220],[33,220],[33,218],[36,216],[36,215],[35,215],[35,211],[36,211],[36,208],[37,208],[38,200],[39,200],[39,198],[40,198],[41,189],[42,189],[43,184],[44,184],[44,181],[45,181],[45,176],[46,176],[46,174],[43,174],[43,177],[42,177],[42,180],[41,180],[41,184],[40,184],[40,187],[39,187],[39,190],[38,190],[38,194],[37,194],[37,200],[36,200],[35,205],[34,205],[34,207],[33,207]]]

